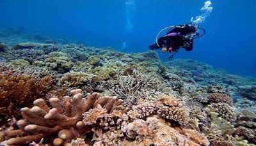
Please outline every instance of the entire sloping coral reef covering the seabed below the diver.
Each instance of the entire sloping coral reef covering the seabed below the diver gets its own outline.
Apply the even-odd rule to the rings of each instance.
[[[256,143],[255,79],[154,51],[0,41],[1,145]]]

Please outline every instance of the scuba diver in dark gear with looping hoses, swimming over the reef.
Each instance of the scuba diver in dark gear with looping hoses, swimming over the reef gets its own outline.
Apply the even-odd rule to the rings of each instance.
[[[158,39],[159,34],[166,29],[169,29],[167,34]],[[205,34],[205,29],[202,29],[204,33],[201,35],[196,33],[198,29],[202,28],[199,28],[198,26],[193,26],[191,23],[181,26],[166,27],[157,34],[156,43],[150,45],[148,48],[150,48],[151,50],[161,48],[162,52],[164,53],[174,52],[174,54],[169,57],[169,59],[172,59],[173,56],[179,51],[179,48],[185,48],[186,51],[193,50],[193,40],[196,38],[200,38]]]

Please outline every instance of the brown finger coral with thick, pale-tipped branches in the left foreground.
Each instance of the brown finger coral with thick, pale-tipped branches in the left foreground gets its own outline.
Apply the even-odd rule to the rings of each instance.
[[[36,99],[33,108],[22,108],[20,111],[26,122],[19,120],[17,122],[19,129],[4,131],[5,136],[15,137],[7,140],[6,143],[22,145],[57,133],[59,138],[54,140],[56,143],[61,142],[60,138],[62,140],[76,138],[78,133],[76,126],[79,127],[77,123],[82,119],[82,113],[92,108],[93,103],[99,98],[98,93],[88,94],[86,99],[82,99],[82,94],[78,91],[76,93],[72,101],[66,97],[62,106],[58,98],[50,99],[52,109],[46,105],[44,99]],[[24,134],[25,136],[21,136]]]

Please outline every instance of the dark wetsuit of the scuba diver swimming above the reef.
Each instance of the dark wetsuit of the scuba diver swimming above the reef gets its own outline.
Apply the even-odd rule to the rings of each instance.
[[[180,28],[183,27],[183,28]],[[175,27],[174,29],[170,30],[167,35],[162,36],[158,39],[158,44],[150,45],[150,49],[158,49],[158,48],[171,48],[172,52],[177,52],[180,47],[185,48],[187,51],[193,50],[193,39],[191,37],[185,38],[190,34],[196,32],[196,28],[194,26],[190,26],[185,24],[180,27]]]

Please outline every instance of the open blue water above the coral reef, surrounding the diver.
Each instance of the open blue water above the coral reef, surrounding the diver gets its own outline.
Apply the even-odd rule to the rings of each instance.
[[[204,0],[1,0],[0,28],[22,26],[48,36],[70,38],[96,47],[144,52],[167,26],[200,15]],[[256,1],[212,0],[212,13],[200,24],[207,31],[192,52],[196,59],[228,73],[256,77]],[[125,4],[126,3],[126,4]],[[127,5],[127,3],[129,3]],[[169,54],[159,52],[166,60]]]

